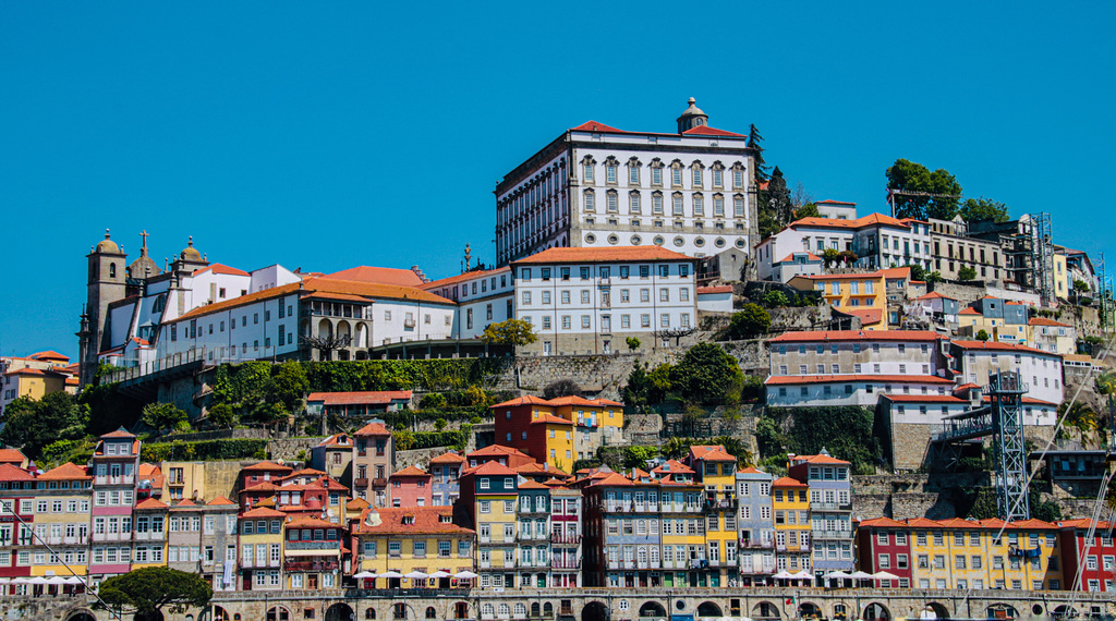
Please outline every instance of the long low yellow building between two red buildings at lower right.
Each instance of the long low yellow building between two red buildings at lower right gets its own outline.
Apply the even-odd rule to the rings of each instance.
[[[907,526],[913,588],[1042,591],[1066,584],[1058,526],[1049,522],[1027,520],[1003,528],[1001,520],[918,518]]]

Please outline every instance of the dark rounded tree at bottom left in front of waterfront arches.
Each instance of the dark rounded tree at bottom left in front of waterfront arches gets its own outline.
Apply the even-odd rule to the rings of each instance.
[[[158,619],[163,608],[174,614],[204,608],[213,598],[213,588],[196,573],[144,567],[109,578],[98,594],[109,605],[135,611],[137,619]]]

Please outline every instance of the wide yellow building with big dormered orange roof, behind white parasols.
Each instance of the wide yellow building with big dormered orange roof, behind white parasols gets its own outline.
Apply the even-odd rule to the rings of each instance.
[[[353,526],[356,540],[354,574],[382,575],[412,572],[442,578],[377,578],[358,580],[365,588],[451,588],[464,585],[453,578],[473,571],[473,531],[453,523],[453,507],[366,508]]]

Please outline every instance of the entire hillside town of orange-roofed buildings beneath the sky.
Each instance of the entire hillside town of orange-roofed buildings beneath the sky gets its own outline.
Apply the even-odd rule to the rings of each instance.
[[[1080,223],[904,158],[815,200],[711,118],[492,171],[443,278],[90,240],[77,359],[0,358],[4,618],[1112,619]]]

